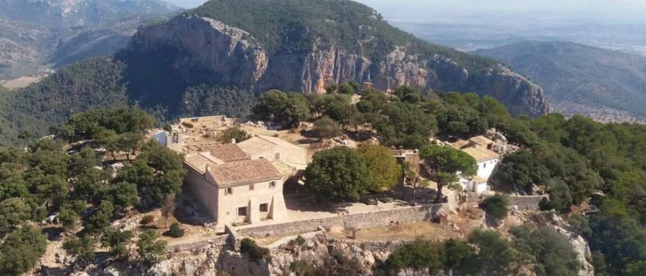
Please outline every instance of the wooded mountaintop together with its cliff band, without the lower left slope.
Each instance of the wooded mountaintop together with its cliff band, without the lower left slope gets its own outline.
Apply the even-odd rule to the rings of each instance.
[[[261,36],[267,29],[275,32]],[[183,85],[323,92],[333,83],[357,81],[382,90],[408,85],[492,95],[516,115],[550,109],[542,89],[521,75],[491,59],[427,43],[353,1],[209,1],[140,28],[117,56],[128,64],[141,56],[156,59],[155,68],[171,68],[158,79],[173,77]],[[147,85],[135,83],[140,103],[154,98]]]

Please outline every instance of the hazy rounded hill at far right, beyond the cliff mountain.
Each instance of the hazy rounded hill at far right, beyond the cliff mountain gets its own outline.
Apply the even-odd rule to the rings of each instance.
[[[545,89],[567,115],[646,121],[646,57],[570,42],[528,41],[475,54],[497,59]]]

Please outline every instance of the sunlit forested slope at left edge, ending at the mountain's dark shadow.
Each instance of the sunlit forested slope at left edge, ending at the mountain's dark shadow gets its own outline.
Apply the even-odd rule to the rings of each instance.
[[[0,108],[2,144],[16,143],[17,132],[40,137],[75,112],[127,104],[121,83],[125,64],[96,57],[61,68],[56,74],[6,95]]]

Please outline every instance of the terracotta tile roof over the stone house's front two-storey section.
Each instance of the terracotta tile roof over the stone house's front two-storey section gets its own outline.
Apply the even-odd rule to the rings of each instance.
[[[218,186],[280,179],[282,175],[267,159],[247,160],[211,166],[209,172]]]

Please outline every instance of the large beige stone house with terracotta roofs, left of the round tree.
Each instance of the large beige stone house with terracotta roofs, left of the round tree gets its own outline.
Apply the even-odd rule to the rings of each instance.
[[[285,221],[284,183],[307,166],[304,148],[266,136],[185,152],[185,182],[221,226]]]

